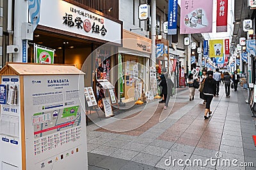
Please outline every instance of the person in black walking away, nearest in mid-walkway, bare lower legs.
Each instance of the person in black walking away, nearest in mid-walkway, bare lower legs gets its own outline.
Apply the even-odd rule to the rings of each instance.
[[[210,105],[211,105],[213,96],[216,95],[216,81],[213,79],[213,72],[208,71],[207,75],[208,76],[207,78],[205,78],[204,88],[203,88],[203,93],[206,101],[205,112],[204,112],[205,120],[209,118],[207,116],[207,113],[209,114],[209,116],[211,116],[212,114]]]

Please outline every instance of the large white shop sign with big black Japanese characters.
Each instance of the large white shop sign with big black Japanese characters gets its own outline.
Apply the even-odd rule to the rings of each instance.
[[[121,44],[121,24],[60,0],[41,2],[42,26]]]

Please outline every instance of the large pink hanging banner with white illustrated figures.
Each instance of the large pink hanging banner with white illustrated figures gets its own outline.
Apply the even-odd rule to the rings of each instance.
[[[180,35],[212,32],[212,0],[181,1]]]

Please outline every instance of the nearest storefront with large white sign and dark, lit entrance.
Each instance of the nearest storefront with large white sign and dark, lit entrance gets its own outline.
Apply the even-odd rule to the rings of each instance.
[[[110,68],[118,63],[122,21],[68,2],[41,2],[41,8],[47,10],[41,10],[33,41],[28,42],[28,62],[36,61],[35,46],[51,49],[54,64],[75,65],[85,73],[84,86],[92,86],[94,93],[98,94],[97,79],[106,79],[115,86],[118,72],[110,72]]]

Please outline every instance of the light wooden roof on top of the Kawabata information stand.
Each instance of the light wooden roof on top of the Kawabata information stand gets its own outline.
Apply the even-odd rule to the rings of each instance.
[[[47,65],[37,63],[6,63],[0,75],[77,75],[84,74],[74,65]]]

